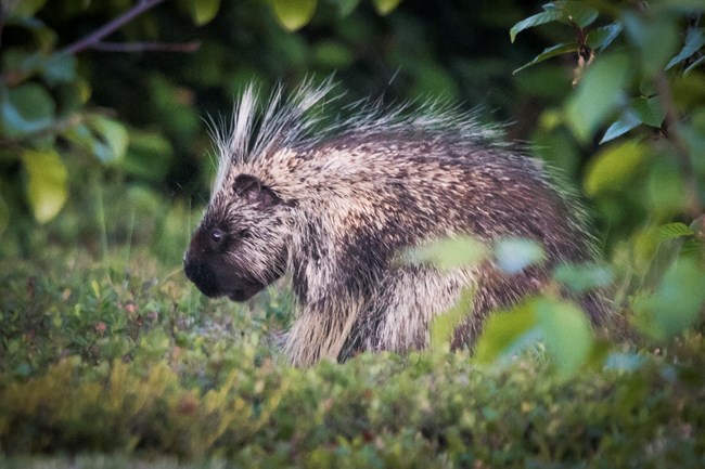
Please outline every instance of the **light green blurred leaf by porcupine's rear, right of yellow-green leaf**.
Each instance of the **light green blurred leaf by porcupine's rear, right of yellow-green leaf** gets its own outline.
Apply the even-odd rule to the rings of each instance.
[[[592,328],[586,314],[571,302],[549,298],[537,299],[535,308],[546,350],[559,375],[564,378],[574,376],[592,349]]]

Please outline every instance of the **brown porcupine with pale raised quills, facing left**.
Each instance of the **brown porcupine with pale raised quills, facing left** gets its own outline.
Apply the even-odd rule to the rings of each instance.
[[[368,103],[324,125],[334,88],[307,82],[284,99],[279,87],[264,105],[245,90],[232,128],[215,132],[216,180],[184,256],[209,297],[245,301],[289,274],[296,311],[283,348],[295,365],[422,349],[467,287],[472,311],[452,343],[472,346],[487,313],[540,290],[556,264],[593,259],[574,197],[473,113]],[[546,260],[515,274],[491,259],[451,271],[399,261],[460,235],[534,239]],[[598,294],[579,301],[595,325],[608,314]]]

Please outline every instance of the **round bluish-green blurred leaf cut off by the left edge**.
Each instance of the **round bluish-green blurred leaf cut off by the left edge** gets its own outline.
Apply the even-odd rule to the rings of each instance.
[[[0,129],[8,138],[26,136],[53,123],[56,106],[40,84],[1,88],[0,100]]]

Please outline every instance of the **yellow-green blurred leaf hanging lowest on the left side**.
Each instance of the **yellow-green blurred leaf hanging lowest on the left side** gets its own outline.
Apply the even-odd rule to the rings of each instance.
[[[62,209],[68,197],[68,172],[54,151],[25,148],[21,155],[27,171],[27,199],[35,219],[46,223]]]

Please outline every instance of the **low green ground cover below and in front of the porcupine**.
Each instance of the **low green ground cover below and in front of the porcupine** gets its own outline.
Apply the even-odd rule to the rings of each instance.
[[[138,196],[5,245],[0,467],[705,466],[697,328],[599,342],[568,378],[541,347],[297,369],[270,339],[286,291],[206,300],[180,271],[195,217]]]

